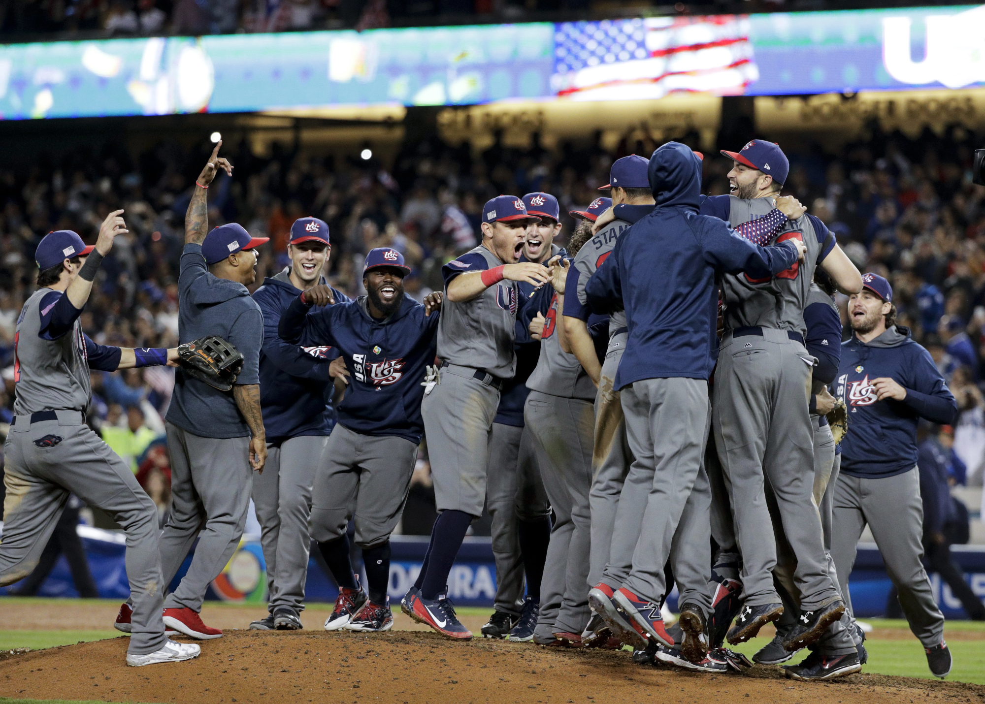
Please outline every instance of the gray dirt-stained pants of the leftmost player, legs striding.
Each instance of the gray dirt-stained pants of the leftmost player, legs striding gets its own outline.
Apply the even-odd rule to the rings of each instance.
[[[167,640],[161,619],[167,582],[161,574],[158,509],[130,468],[83,424],[82,414],[54,413],[57,419],[34,423],[31,416],[16,416],[4,443],[7,497],[0,586],[33,572],[69,494],[74,493],[112,516],[126,533],[126,573],[133,605],[127,652],[147,655],[161,650]]]

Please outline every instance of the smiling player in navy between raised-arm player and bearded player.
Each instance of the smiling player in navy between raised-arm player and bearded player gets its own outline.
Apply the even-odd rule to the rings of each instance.
[[[269,613],[250,623],[254,630],[297,630],[307,578],[308,515],[315,468],[332,431],[333,367],[324,347],[308,351],[277,334],[282,313],[302,290],[326,284],[322,271],[331,244],[328,225],[301,218],[291,225],[291,266],[264,280],[253,293],[263,313],[260,350],[260,406],[267,430],[267,463],[253,479],[253,505],[267,563]],[[349,300],[333,290],[337,301]]]

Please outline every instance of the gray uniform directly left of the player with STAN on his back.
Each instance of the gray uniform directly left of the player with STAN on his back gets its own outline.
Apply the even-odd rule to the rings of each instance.
[[[588,608],[591,548],[592,446],[595,384],[578,359],[560,348],[558,296],[551,298],[550,321],[541,338],[537,368],[527,380],[530,395],[524,421],[534,440],[537,466],[555,513],[541,585],[535,636],[581,634]],[[552,324],[554,323],[554,324]],[[554,604],[562,595],[557,611]]]

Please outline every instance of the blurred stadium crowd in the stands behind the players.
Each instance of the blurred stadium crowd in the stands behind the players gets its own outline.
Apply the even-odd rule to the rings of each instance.
[[[696,135],[681,139],[697,147]],[[0,170],[4,421],[13,405],[17,317],[34,288],[34,247],[48,231],[74,229],[92,241],[105,215],[123,208],[130,231],[117,239],[102,265],[84,328],[105,345],[176,345],[183,217],[203,155],[174,143],[139,155],[115,145],[48,156],[26,171]],[[526,149],[497,140],[474,155],[467,143],[451,146],[434,138],[406,144],[386,168],[375,159],[337,161],[279,145],[260,156],[243,142],[227,151],[235,177],[223,175],[214,184],[210,224],[238,222],[255,236],[271,237],[259,250],[254,288],[287,265],[290,226],[312,215],[330,227],[334,287],[360,294],[356,273],[362,257],[389,246],[413,267],[406,289],[420,300],[441,289],[441,265],[477,243],[487,199],[546,191],[558,196],[562,213],[583,208],[599,195],[612,160],[648,156],[656,146],[649,139],[627,138],[610,153],[597,136],[585,145],[549,151],[534,135]],[[960,482],[980,481],[985,456],[979,387],[985,375],[985,188],[970,182],[974,146],[975,136],[959,127],[943,136],[927,130],[917,139],[873,127],[871,135],[836,154],[788,148],[792,168],[784,188],[810,204],[860,271],[889,279],[897,320],[913,330],[948,376],[962,410],[953,438],[962,461],[955,467],[966,468],[954,472],[953,480]],[[706,193],[727,192],[730,163],[705,160]],[[570,232],[572,223],[564,225],[563,232]],[[94,372],[91,420],[162,511],[169,498],[162,417],[172,386],[172,370],[166,367]],[[433,509],[427,507],[427,463],[419,464],[405,531],[426,534],[430,521],[420,516],[430,511],[432,521]]]

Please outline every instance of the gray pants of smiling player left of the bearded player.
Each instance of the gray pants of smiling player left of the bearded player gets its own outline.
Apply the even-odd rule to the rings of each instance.
[[[253,478],[253,507],[267,563],[267,608],[304,608],[311,536],[311,485],[325,435],[302,435],[267,444],[263,473]]]

